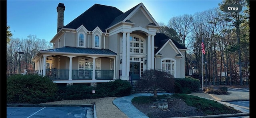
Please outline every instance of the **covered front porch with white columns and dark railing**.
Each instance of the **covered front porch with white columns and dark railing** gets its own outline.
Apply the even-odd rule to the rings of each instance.
[[[71,49],[76,49],[78,52],[91,50]],[[52,50],[55,49],[40,51],[34,58],[34,62],[36,73],[50,77],[55,83],[108,82],[116,79],[116,53],[110,50],[91,50],[102,54],[74,53],[74,50],[73,53],[68,53],[70,50],[64,50],[66,52],[62,53]]]

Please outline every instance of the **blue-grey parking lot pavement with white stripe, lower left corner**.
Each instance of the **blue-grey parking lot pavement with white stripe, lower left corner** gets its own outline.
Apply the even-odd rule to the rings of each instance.
[[[94,118],[90,106],[7,107],[7,118]]]

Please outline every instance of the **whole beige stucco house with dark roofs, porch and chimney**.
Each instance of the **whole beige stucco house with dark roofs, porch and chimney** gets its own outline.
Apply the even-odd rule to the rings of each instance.
[[[143,71],[157,69],[185,78],[188,50],[168,36],[140,3],[126,12],[94,4],[64,26],[65,6],[57,6],[57,33],[53,48],[33,58],[35,71],[55,83],[98,83],[140,79]]]

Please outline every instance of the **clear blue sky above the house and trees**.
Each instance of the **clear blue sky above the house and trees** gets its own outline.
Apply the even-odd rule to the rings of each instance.
[[[168,24],[173,16],[217,8],[222,0],[7,0],[7,25],[13,38],[52,40],[57,33],[58,3],[64,3],[64,26],[94,4],[114,6],[126,12],[142,2],[156,22]]]

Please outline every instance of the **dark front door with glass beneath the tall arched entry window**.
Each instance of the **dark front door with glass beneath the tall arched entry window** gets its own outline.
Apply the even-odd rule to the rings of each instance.
[[[132,80],[140,79],[140,62],[130,62],[130,74]]]

